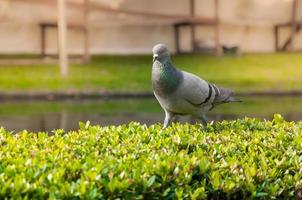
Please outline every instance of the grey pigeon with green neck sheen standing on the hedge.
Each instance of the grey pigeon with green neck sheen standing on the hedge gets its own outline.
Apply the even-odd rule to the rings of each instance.
[[[231,96],[232,91],[178,70],[172,64],[164,44],[153,47],[152,87],[165,111],[164,128],[170,125],[176,115],[191,115],[200,119],[205,126],[205,115],[216,105],[240,101]]]

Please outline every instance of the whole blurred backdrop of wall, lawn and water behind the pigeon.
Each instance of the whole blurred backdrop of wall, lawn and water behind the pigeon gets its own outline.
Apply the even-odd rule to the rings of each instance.
[[[243,99],[210,119],[301,120],[301,25],[301,0],[0,0],[0,126],[162,122],[157,43],[178,68]]]

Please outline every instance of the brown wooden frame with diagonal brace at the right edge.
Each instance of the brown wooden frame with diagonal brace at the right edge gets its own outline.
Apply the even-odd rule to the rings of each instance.
[[[297,21],[297,5],[298,5],[298,0],[293,0],[292,16],[291,16],[290,22],[276,24],[274,26],[275,50],[277,52],[292,50],[293,39],[297,35],[297,33],[301,30],[302,21]],[[290,28],[291,31],[290,31],[290,35],[287,38],[287,40],[285,41],[285,43],[280,46],[280,41],[279,41],[280,40],[280,30],[282,28]]]

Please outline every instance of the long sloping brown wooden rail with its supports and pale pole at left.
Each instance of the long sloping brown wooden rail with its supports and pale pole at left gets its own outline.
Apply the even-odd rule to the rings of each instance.
[[[19,1],[24,3],[24,0],[12,0]],[[82,59],[84,62],[89,62],[89,12],[103,12],[111,14],[119,14],[123,16],[136,16],[142,18],[157,18],[161,20],[170,20],[171,24],[175,29],[175,46],[178,53],[181,53],[179,46],[179,29],[182,26],[191,27],[191,36],[192,36],[192,49],[195,52],[196,48],[196,39],[195,39],[195,27],[196,26],[213,26],[215,28],[215,43],[216,48],[215,52],[218,55],[220,51],[219,47],[219,20],[218,20],[218,0],[215,1],[215,17],[214,18],[205,18],[195,15],[195,1],[188,0],[190,2],[190,15],[173,15],[173,14],[164,14],[164,13],[153,13],[145,11],[135,11],[135,10],[125,10],[119,8],[113,8],[110,6],[101,5],[89,0],[73,1],[73,0],[57,0],[57,4],[53,0],[27,0],[26,3],[32,4],[44,4],[49,6],[57,6],[58,17],[56,22],[42,22],[39,24],[40,35],[41,35],[41,56],[43,58],[48,57],[49,55],[46,52],[46,35],[47,30],[57,29],[58,30],[58,47],[59,47],[59,64],[61,67],[62,76],[67,76],[68,74],[68,30],[81,31],[84,34],[84,55]],[[83,23],[73,24],[67,22],[66,11],[69,7],[78,8],[83,10],[84,20]]]

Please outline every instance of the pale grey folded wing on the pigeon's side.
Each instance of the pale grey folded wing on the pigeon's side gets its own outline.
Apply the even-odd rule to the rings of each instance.
[[[184,71],[182,73],[183,82],[179,87],[181,96],[194,106],[212,103],[215,96],[213,87],[194,74]]]

